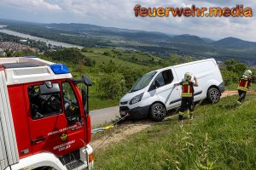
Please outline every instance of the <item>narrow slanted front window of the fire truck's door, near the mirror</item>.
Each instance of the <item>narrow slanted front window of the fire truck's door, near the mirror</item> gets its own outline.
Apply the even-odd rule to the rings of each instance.
[[[80,116],[79,102],[73,92],[73,88],[69,82],[62,82],[62,91],[64,96],[64,110],[67,119],[73,116]]]

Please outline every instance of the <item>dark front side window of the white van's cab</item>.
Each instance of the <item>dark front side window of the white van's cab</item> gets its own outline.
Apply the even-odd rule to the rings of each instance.
[[[160,72],[160,74],[155,77],[155,82],[158,82],[158,86],[162,87],[167,84],[170,84],[173,81],[173,75],[172,75],[172,70],[166,70]]]

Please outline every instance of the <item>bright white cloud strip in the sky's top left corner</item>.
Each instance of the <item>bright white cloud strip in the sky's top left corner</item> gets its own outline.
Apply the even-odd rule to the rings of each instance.
[[[27,8],[30,11],[38,10],[49,10],[49,11],[59,11],[61,7],[58,4],[48,3],[45,0],[3,0],[3,3],[19,7]]]

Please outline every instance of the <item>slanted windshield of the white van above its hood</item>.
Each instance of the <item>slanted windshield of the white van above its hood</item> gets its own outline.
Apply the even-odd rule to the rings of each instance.
[[[140,77],[140,79],[138,79],[138,81],[136,82],[136,84],[131,88],[131,92],[135,92],[138,90],[141,90],[143,88],[146,88],[148,86],[148,83],[152,80],[152,78],[154,77],[156,71],[154,72],[149,72],[148,74],[145,74],[143,77]]]

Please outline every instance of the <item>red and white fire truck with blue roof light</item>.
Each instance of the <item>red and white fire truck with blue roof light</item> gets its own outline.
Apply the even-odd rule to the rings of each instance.
[[[0,58],[0,170],[91,169],[91,85],[66,65]]]

